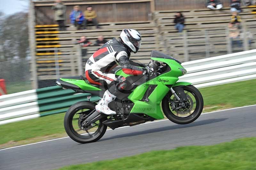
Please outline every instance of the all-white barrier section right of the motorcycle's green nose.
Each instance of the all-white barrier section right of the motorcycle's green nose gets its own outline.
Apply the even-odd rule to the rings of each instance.
[[[197,88],[256,78],[256,50],[205,58],[182,64],[187,74],[179,81],[188,81]]]

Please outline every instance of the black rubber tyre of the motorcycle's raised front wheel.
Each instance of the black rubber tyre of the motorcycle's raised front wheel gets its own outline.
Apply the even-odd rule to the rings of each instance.
[[[169,120],[171,120],[173,123],[177,123],[177,124],[188,124],[188,123],[195,121],[201,115],[201,113],[203,111],[203,107],[204,107],[203,97],[202,97],[200,91],[198,89],[196,89],[196,87],[194,87],[192,85],[183,86],[183,87],[184,87],[183,88],[184,90],[192,93],[196,99],[196,108],[195,108],[194,112],[191,113],[189,116],[178,117],[178,116],[174,115],[170,109],[168,95],[166,95],[164,97],[164,99],[162,100],[162,109],[163,109],[164,115]],[[171,92],[169,94],[172,95]],[[171,97],[171,95],[169,95],[169,97]]]

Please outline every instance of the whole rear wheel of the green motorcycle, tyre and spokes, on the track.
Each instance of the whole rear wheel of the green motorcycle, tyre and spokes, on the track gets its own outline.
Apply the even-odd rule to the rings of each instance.
[[[97,123],[89,125],[93,127],[98,126],[98,128],[86,128],[82,130],[79,128],[79,116],[81,111],[92,111],[95,109],[95,104],[87,101],[81,101],[70,106],[64,117],[64,128],[68,136],[78,143],[91,143],[98,141],[106,132],[107,126],[102,122],[107,120],[107,118],[102,118],[98,120]],[[76,116],[76,118],[74,118]],[[79,118],[78,118],[79,117]],[[91,131],[90,131],[91,130]]]

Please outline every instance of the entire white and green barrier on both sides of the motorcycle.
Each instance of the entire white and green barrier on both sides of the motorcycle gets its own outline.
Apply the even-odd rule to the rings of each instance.
[[[256,78],[256,50],[182,63],[188,81],[197,88]],[[88,100],[90,94],[75,94],[58,86],[0,96],[0,125],[66,112],[72,104]],[[92,96],[91,101],[99,97]]]

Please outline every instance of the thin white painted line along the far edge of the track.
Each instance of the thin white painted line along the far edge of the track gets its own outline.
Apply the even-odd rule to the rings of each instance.
[[[209,114],[209,113],[215,113],[215,112],[223,112],[223,111],[234,110],[234,109],[240,109],[240,108],[251,107],[251,106],[256,106],[256,104],[248,105],[248,106],[235,107],[235,108],[225,109],[225,110],[218,110],[218,111],[213,111],[213,112],[207,112],[207,113],[202,113],[202,114]],[[154,122],[160,122],[160,121],[165,121],[165,120],[169,120],[169,119],[157,120],[157,121],[152,121],[152,122],[146,122],[146,123],[142,123],[142,124],[140,124],[140,125],[148,124],[148,123],[154,123]],[[123,126],[123,127],[120,127],[120,128],[127,128],[127,127],[130,127],[130,126]],[[120,128],[116,128],[116,129],[120,129]],[[112,129],[107,129],[107,130],[112,130]],[[93,132],[91,132],[91,133],[93,133]],[[19,147],[22,147],[22,146],[33,145],[33,144],[37,144],[37,143],[50,142],[50,141],[55,141],[55,140],[65,139],[65,138],[69,138],[69,136],[61,137],[61,138],[57,138],[57,139],[51,139],[51,140],[47,140],[47,141],[36,142],[36,143],[30,143],[30,144],[26,144],[26,145],[14,146],[14,147],[5,148],[5,149],[0,149],[0,151],[4,151],[4,150],[7,150],[7,149],[12,149],[12,148],[19,148]]]

